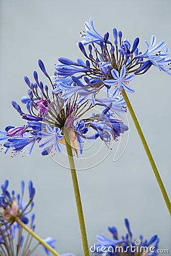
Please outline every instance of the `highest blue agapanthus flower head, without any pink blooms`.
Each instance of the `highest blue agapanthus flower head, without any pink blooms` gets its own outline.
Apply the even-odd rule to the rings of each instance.
[[[117,97],[123,89],[133,93],[130,82],[136,75],[142,75],[155,65],[160,71],[171,75],[171,58],[164,41],[156,44],[156,36],[152,35],[147,43],[147,51],[139,51],[139,38],[131,43],[123,38],[122,31],[113,29],[114,38],[109,38],[109,32],[104,36],[94,28],[93,18],[85,22],[85,31],[81,32],[82,40],[78,47],[86,57],[86,61],[59,58],[55,65],[55,92],[68,90],[72,94],[78,92],[95,100],[99,90],[106,89],[107,96]],[[87,46],[87,49],[85,48]],[[109,94],[110,93],[110,94]]]

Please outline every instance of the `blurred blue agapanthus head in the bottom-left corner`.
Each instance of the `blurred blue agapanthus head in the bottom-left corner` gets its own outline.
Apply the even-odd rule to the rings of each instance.
[[[0,255],[1,256],[29,256],[36,250],[40,243],[37,243],[31,248],[32,236],[23,236],[23,227],[20,226],[16,220],[19,218],[24,224],[30,222],[30,229],[35,231],[35,213],[31,214],[30,220],[26,215],[31,212],[34,207],[35,188],[32,181],[28,183],[29,201],[23,203],[24,197],[24,181],[21,181],[21,193],[15,195],[15,191],[10,193],[7,189],[9,181],[6,180],[1,185],[2,195],[0,196]],[[47,237],[44,242],[48,243],[55,249],[56,240],[52,237]],[[47,255],[50,255],[49,250],[41,245]],[[74,256],[73,254],[61,254],[61,256]]]

